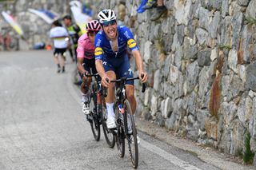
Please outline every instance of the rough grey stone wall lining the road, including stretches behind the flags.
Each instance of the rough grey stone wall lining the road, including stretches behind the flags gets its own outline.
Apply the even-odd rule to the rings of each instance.
[[[49,26],[19,7],[64,14],[67,2],[18,2],[16,14],[30,34],[29,44],[46,41]],[[234,155],[250,132],[256,151],[256,0],[164,2],[168,14],[151,22],[155,10],[137,14],[139,1],[94,1],[95,13],[103,8],[118,13],[126,4],[122,22],[134,32],[149,73],[146,93],[136,91],[138,115]],[[133,60],[132,65],[135,70]]]

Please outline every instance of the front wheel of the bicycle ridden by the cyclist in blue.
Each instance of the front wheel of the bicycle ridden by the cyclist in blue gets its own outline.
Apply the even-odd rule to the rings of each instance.
[[[134,168],[138,167],[138,141],[137,141],[137,129],[135,127],[135,122],[134,122],[134,116],[132,115],[132,111],[130,108],[130,103],[126,99],[124,101],[124,109],[125,109],[125,117],[124,117],[124,122],[125,126],[128,131],[128,126],[130,126],[130,129],[132,130],[131,134],[127,134],[127,143],[128,143],[128,149],[129,149],[129,155],[130,155],[130,160],[133,164]]]

